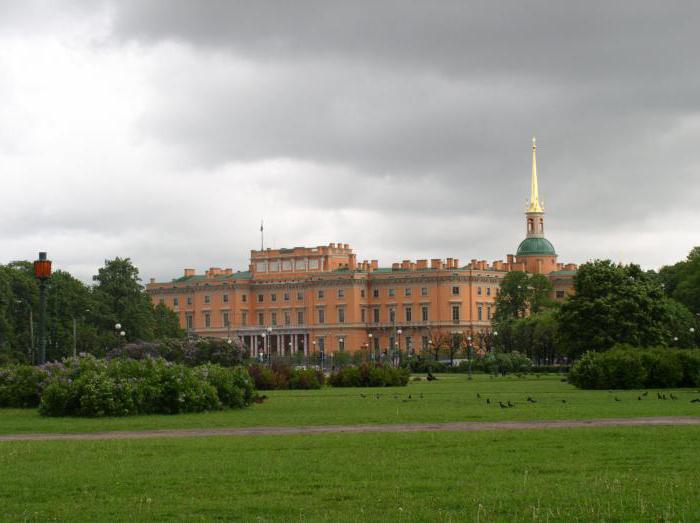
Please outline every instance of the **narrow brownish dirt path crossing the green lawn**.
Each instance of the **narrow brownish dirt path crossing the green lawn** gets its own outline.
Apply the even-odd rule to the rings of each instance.
[[[463,421],[454,423],[405,423],[395,425],[326,425],[313,427],[248,427],[230,429],[168,429],[76,434],[7,434],[1,441],[104,440],[144,438],[200,438],[211,436],[275,436],[366,432],[474,432],[481,430],[575,429],[586,427],[638,427],[700,425],[700,417],[609,418],[554,421]]]

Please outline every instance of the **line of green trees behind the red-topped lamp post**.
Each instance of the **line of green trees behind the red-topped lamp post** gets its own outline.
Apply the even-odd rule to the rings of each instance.
[[[153,305],[129,258],[106,260],[92,284],[62,270],[48,281],[46,356],[60,360],[76,352],[97,356],[123,341],[182,337],[177,315]],[[0,265],[0,364],[36,361],[39,285],[32,263]]]

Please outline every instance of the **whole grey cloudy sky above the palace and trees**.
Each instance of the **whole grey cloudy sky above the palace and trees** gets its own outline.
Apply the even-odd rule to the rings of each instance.
[[[260,243],[501,259],[538,139],[561,261],[700,243],[694,2],[0,0],[0,263]]]

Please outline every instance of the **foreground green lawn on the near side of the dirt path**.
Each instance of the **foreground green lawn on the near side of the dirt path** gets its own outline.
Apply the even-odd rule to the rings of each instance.
[[[5,442],[0,519],[698,521],[698,441],[627,427]]]

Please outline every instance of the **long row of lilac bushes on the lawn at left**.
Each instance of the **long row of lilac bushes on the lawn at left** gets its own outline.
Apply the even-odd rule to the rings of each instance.
[[[253,400],[245,369],[188,367],[159,359],[92,356],[0,371],[0,407],[36,407],[45,416],[177,414],[242,408]]]

